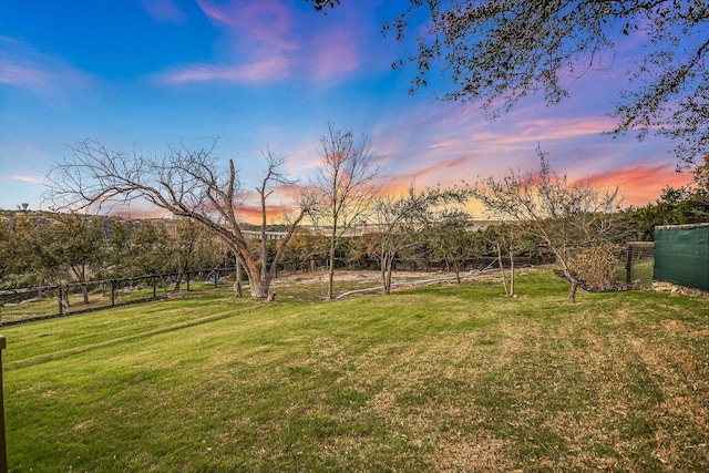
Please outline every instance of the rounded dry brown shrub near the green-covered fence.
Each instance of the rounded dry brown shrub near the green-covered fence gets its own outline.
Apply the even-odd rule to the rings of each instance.
[[[615,282],[614,271],[619,251],[620,248],[617,245],[603,243],[573,255],[569,266],[589,287],[609,290]]]

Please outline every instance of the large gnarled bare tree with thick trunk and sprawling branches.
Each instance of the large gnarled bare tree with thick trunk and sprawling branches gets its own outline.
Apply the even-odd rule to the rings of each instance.
[[[219,171],[216,142],[207,148],[171,148],[164,156],[146,156],[110,150],[95,141],[84,141],[71,147],[72,156],[50,172],[50,189],[45,199],[63,209],[111,209],[143,200],[175,216],[201,224],[222,238],[238,255],[249,279],[251,297],[269,296],[278,260],[292,232],[311,208],[311,199],[300,194],[298,207],[275,257],[269,261],[266,251],[266,215],[268,197],[275,186],[291,185],[280,172],[285,157],[266,152],[266,169],[256,188],[260,199],[260,241],[244,233],[245,220],[238,217],[246,198],[234,161]]]

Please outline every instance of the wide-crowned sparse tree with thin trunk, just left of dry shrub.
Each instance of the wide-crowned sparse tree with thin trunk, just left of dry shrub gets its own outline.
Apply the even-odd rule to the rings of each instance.
[[[612,216],[618,209],[618,189],[600,191],[590,182],[568,183],[551,167],[545,154],[536,173],[511,171],[501,181],[487,177],[474,195],[496,217],[520,223],[523,232],[540,238],[556,256],[571,281],[569,302],[576,302],[578,278],[572,267],[572,249],[606,240]]]

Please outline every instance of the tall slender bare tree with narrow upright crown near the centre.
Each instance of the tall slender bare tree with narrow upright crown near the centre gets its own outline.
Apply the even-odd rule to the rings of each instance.
[[[311,179],[319,205],[312,215],[330,227],[328,299],[332,299],[338,239],[368,210],[377,192],[372,182],[379,168],[369,140],[356,143],[351,130],[337,130],[332,123],[328,123],[328,133],[320,138],[319,153],[321,166]]]

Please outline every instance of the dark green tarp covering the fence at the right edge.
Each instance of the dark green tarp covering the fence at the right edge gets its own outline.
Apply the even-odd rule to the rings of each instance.
[[[655,227],[653,279],[709,291],[709,223]]]

